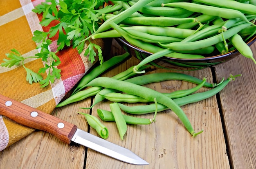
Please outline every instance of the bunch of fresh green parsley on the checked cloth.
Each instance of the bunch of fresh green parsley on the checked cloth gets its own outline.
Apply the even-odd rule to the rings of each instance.
[[[34,31],[32,40],[36,42],[37,49],[40,50],[35,56],[26,58],[38,58],[45,61],[43,68],[38,70],[38,73],[25,67],[24,58],[20,53],[12,49],[11,53],[6,54],[7,58],[3,59],[1,66],[11,67],[22,64],[27,72],[27,81],[31,84],[39,82],[45,87],[49,83],[53,83],[55,79],[61,77],[61,70],[57,68],[61,61],[56,53],[62,50],[65,46],[76,48],[79,53],[83,51],[85,39],[93,34],[100,26],[101,15],[111,12],[115,5],[109,5],[101,9],[102,5],[107,0],[45,0],[38,4],[33,12],[42,14],[43,18],[40,24],[48,26],[52,22],[56,22],[48,32]],[[51,38],[58,33],[57,51],[49,50],[49,45],[52,44]],[[90,42],[90,41],[89,41]],[[97,53],[94,51],[98,51]],[[103,56],[101,46],[90,43],[85,50],[85,56],[89,55],[89,61],[94,62],[95,57],[99,57],[100,64],[103,64]],[[97,56],[96,56],[97,55]],[[43,79],[41,74],[47,73],[47,77]]]

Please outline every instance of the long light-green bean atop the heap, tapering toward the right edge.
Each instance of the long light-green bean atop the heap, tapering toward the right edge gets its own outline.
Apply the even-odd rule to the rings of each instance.
[[[249,22],[249,20],[247,20],[246,16],[243,13],[234,9],[213,7],[213,6],[195,4],[195,3],[189,3],[189,2],[174,2],[174,3],[162,4],[162,6],[163,7],[180,7],[189,11],[203,13],[206,15],[219,16],[225,19],[240,18],[241,20],[249,24],[252,24],[251,22]]]

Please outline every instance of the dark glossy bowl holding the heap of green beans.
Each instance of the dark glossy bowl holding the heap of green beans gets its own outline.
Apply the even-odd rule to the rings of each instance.
[[[117,42],[132,56],[137,57],[139,60],[142,60],[149,55],[152,55],[152,53],[143,50],[141,48],[138,48],[136,46],[133,46],[129,42],[127,42],[123,38],[116,38]],[[256,35],[252,37],[248,42],[247,45],[251,46],[256,41]],[[156,59],[149,64],[161,68],[166,69],[173,69],[178,67],[186,67],[191,69],[202,69],[207,67],[213,67],[218,64],[222,64],[226,61],[229,61],[235,57],[240,55],[238,50],[232,50],[228,53],[222,54],[222,55],[212,55],[212,56],[205,56],[205,58],[201,59],[179,59],[179,58],[173,58],[173,57],[161,57],[159,59]]]

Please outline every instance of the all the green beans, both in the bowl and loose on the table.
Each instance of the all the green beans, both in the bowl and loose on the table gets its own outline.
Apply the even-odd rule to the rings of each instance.
[[[256,33],[255,0],[113,0],[116,8],[113,13],[105,14],[103,24],[89,38],[122,37],[138,48],[152,55],[125,72],[109,78],[98,77],[108,68],[120,63],[123,56],[106,61],[102,69],[91,71],[74,90],[72,96],[59,103],[61,107],[85,98],[95,96],[95,104],[108,99],[110,110],[98,109],[102,121],[115,121],[121,139],[127,132],[127,124],[150,124],[155,122],[157,112],[172,110],[182,121],[191,136],[195,132],[186,114],[180,106],[195,103],[212,97],[220,92],[235,77],[230,75],[218,84],[207,83],[206,79],[197,79],[179,73],[155,73],[137,75],[146,72],[147,64],[160,57],[183,59],[203,58],[227,53],[237,49],[242,55],[256,61],[246,41]],[[83,40],[83,41],[85,41]],[[124,57],[124,58],[121,58]],[[160,93],[142,85],[164,80],[183,80],[198,84],[195,88],[175,91],[171,94]],[[211,88],[206,92],[197,92],[202,87]],[[89,87],[89,88],[87,88]],[[84,90],[84,88],[87,88]],[[195,94],[193,94],[196,92]],[[154,102],[154,104],[127,106],[122,103]],[[83,108],[83,109],[90,109]],[[124,115],[153,113],[153,119],[142,119]],[[83,114],[83,113],[81,113]],[[88,124],[96,129],[103,138],[108,137],[108,130],[95,116],[84,114]]]

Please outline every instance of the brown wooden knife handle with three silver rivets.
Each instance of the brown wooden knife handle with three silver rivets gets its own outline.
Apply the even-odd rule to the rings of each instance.
[[[0,94],[0,114],[21,125],[49,132],[70,144],[77,126]]]

